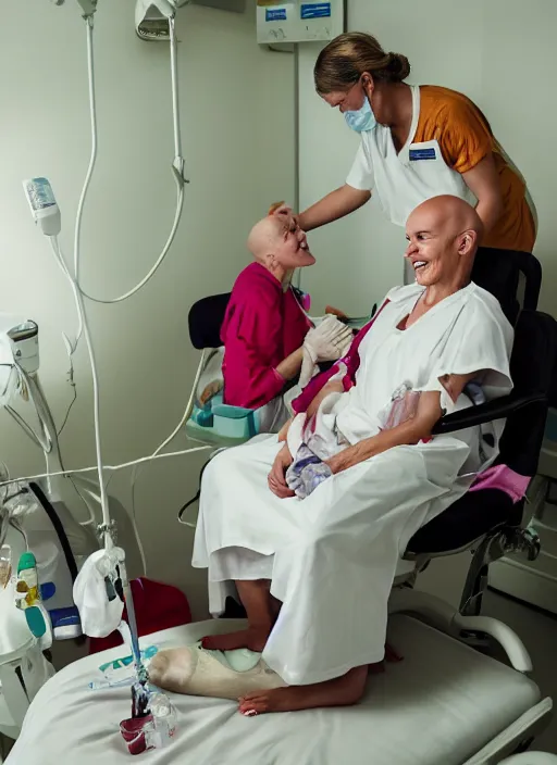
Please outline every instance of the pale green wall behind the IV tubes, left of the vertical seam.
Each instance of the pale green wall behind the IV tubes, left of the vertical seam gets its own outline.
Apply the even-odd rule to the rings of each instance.
[[[82,277],[89,292],[108,298],[148,271],[175,210],[169,47],[136,37],[134,4],[99,0],[96,17],[99,158],[85,209]],[[90,146],[85,27],[75,2],[55,8],[46,0],[8,3],[3,22],[0,308],[39,324],[41,379],[60,424],[71,400],[61,333],[75,333],[74,304],[21,181],[50,178],[70,253]],[[257,45],[255,0],[244,14],[186,8],[177,30],[191,181],[184,217],[168,260],[143,291],[119,305],[89,304],[109,464],[151,453],[174,429],[198,362],[187,335],[189,306],[231,288],[248,263],[249,227],[270,202],[293,196],[292,141],[282,140],[294,121],[293,57]],[[67,467],[94,464],[83,342],[76,381],[78,399],[61,439]],[[185,446],[183,437],[172,444]],[[2,411],[0,459],[13,475],[44,469],[42,455]],[[193,532],[177,525],[176,511],[197,490],[203,460],[194,454],[145,468],[136,505],[149,576],[181,586],[198,615],[206,607],[205,573],[189,567]],[[129,507],[129,472],[116,475],[110,490]]]

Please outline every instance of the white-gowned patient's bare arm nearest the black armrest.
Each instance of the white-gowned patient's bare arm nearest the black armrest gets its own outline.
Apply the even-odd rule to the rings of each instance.
[[[470,375],[446,375],[441,379],[441,382],[453,401],[456,401],[465,389],[466,384],[475,376],[476,373]],[[442,416],[441,393],[435,390],[424,391],[420,396],[416,414],[410,419],[389,430],[382,430],[376,436],[364,438],[354,447],[348,447],[348,449],[327,460],[327,465],[333,473],[341,473],[387,451],[387,449],[418,443],[431,437],[433,426]]]

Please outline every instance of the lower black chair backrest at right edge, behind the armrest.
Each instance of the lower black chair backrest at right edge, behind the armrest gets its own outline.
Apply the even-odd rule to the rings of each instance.
[[[515,328],[510,359],[512,398],[542,393],[549,399],[556,373],[557,322],[540,311],[522,311]],[[505,425],[498,462],[523,476],[537,472],[548,404],[524,406]]]

